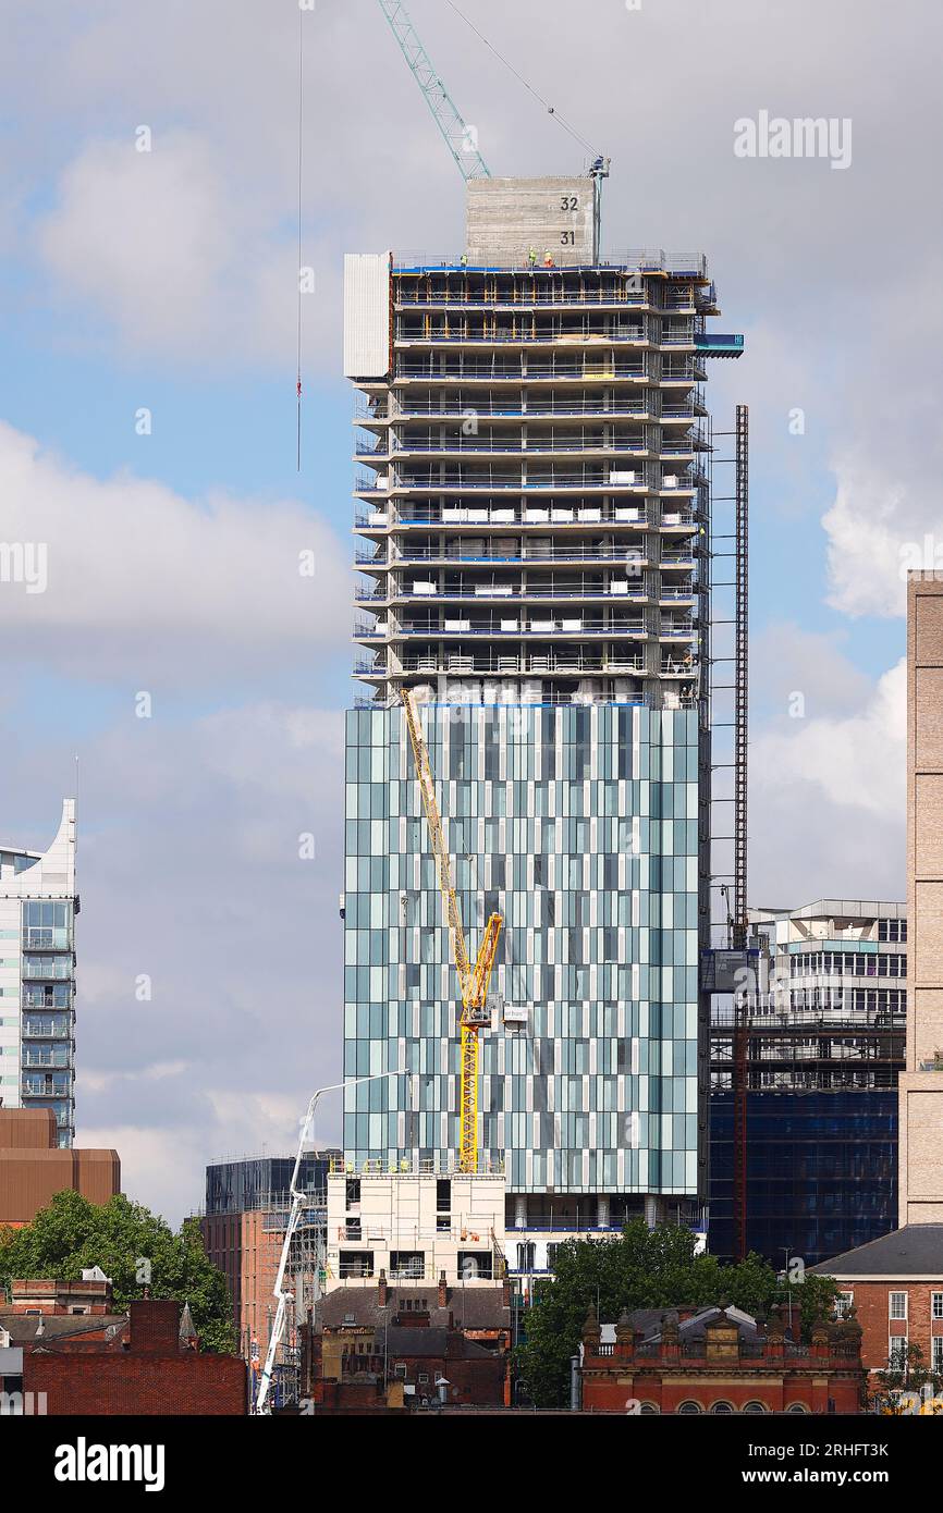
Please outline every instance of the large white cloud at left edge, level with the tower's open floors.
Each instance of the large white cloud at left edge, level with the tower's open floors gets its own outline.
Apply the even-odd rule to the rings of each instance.
[[[101,481],[2,422],[0,493],[5,540],[41,543],[48,579],[2,584],[0,625],[8,654],[45,672],[219,687],[347,645],[341,545],[295,501]]]

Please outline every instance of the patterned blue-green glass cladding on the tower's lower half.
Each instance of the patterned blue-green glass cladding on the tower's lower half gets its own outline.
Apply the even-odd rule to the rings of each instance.
[[[698,717],[425,711],[463,918],[504,915],[481,1147],[512,1191],[698,1185]],[[348,714],[345,1074],[354,1160],[457,1148],[456,973],[403,711]]]

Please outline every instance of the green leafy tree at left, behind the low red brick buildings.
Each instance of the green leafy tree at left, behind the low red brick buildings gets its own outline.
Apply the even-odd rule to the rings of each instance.
[[[226,1277],[207,1259],[197,1219],[185,1219],[174,1235],[123,1194],[98,1206],[79,1192],[58,1192],[32,1224],[0,1229],[0,1286],[8,1291],[14,1277],[77,1282],[88,1266],[112,1278],[117,1309],[148,1288],[150,1297],[189,1303],[204,1348],[235,1348]]]

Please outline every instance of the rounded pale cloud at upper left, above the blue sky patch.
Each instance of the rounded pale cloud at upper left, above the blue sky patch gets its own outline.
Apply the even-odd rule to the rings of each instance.
[[[132,133],[88,141],[36,231],[50,298],[73,310],[83,301],[130,354],[291,366],[295,233],[265,215],[235,169],[233,156],[195,130],[157,129],[150,151],[138,151]],[[316,274],[303,310],[307,343],[328,346],[339,331],[339,263],[310,235],[304,259]]]

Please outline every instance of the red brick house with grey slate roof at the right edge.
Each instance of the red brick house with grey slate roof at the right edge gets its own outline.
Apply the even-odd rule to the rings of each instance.
[[[919,1345],[943,1374],[943,1224],[907,1224],[811,1271],[834,1277],[845,1313],[855,1309],[867,1371],[904,1365]]]

